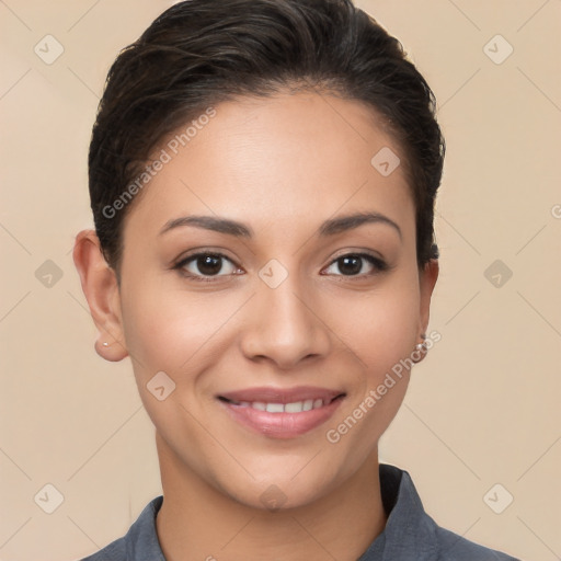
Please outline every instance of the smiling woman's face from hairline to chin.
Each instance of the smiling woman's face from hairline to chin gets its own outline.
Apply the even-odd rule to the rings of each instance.
[[[171,160],[125,220],[124,345],[162,471],[302,505],[376,454],[407,371],[365,399],[421,341],[436,275],[420,274],[403,169],[388,174],[403,156],[369,108],[298,93],[215,110],[159,147]]]

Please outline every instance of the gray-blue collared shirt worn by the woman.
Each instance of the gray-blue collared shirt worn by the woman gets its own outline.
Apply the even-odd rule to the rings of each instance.
[[[381,463],[380,485],[388,522],[357,561],[518,561],[440,528],[407,471]],[[150,501],[123,538],[81,561],[165,561],[156,533],[162,502],[162,495]]]

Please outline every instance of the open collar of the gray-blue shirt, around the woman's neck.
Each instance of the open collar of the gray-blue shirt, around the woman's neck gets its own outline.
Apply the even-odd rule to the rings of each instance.
[[[381,499],[388,520],[383,531],[358,561],[435,559],[436,524],[424,512],[421,499],[407,471],[380,463]],[[127,559],[165,561],[156,531],[156,516],[163,496],[150,501],[125,536]]]

